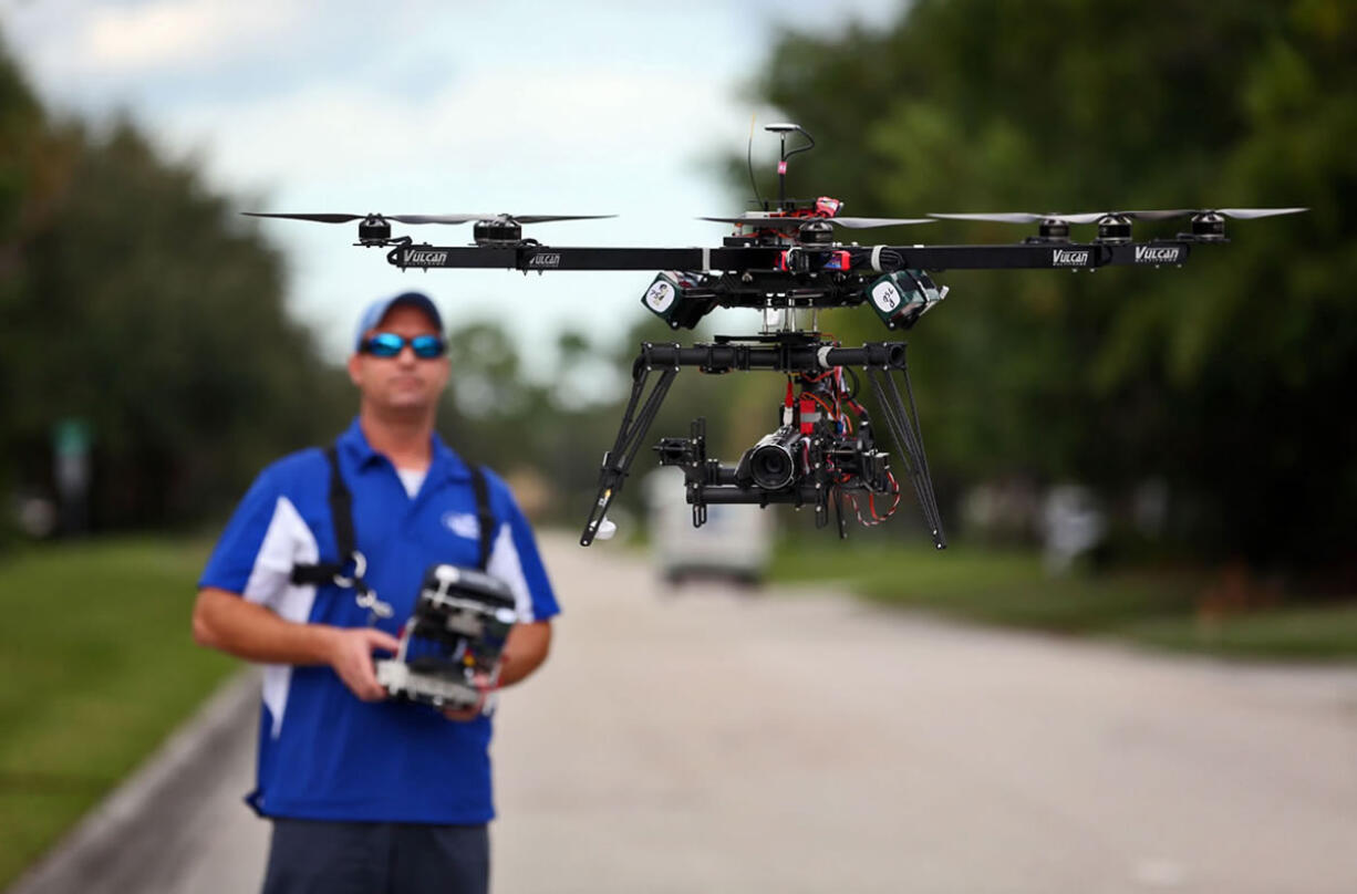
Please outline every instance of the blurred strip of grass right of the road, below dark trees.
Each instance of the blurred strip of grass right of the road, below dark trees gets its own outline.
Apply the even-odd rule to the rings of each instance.
[[[1031,552],[799,540],[778,549],[773,578],[833,581],[870,600],[1030,629],[1106,635],[1152,647],[1276,659],[1357,659],[1357,594],[1315,606],[1202,620],[1205,571],[1114,571],[1049,578]]]

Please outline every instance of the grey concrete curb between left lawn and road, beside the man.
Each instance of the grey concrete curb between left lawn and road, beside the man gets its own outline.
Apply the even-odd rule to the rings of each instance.
[[[259,674],[223,684],[137,771],[57,842],[5,894],[136,890],[148,861],[163,864],[166,842],[197,807],[217,761],[256,735]]]

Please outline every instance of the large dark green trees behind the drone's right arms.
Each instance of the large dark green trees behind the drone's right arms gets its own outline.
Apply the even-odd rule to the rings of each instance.
[[[1310,206],[1235,222],[1183,270],[943,274],[953,297],[909,341],[944,478],[1076,478],[1111,497],[1160,478],[1198,555],[1350,559],[1352,4],[919,0],[882,33],[784,35],[757,90],[820,144],[791,191],[848,213]],[[832,328],[881,338],[862,311]]]

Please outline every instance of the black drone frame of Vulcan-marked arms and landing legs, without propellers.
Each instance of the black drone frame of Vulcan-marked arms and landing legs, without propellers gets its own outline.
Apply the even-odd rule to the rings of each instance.
[[[376,236],[376,235],[375,235]],[[839,243],[801,244],[776,239],[727,239],[719,248],[622,248],[543,246],[535,240],[513,244],[432,246],[414,244],[408,237],[362,239],[360,244],[389,247],[387,260],[404,269],[499,267],[521,270],[681,270],[693,277],[695,288],[685,290],[681,309],[674,307],[668,317],[673,328],[691,328],[715,307],[746,307],[773,311],[851,307],[867,300],[873,278],[911,270],[946,269],[1067,269],[1096,270],[1103,266],[1181,265],[1186,260],[1190,235],[1175,240],[1069,243],[1033,239],[1010,246],[843,246]],[[715,273],[719,271],[719,273]],[[905,323],[908,328],[912,322]],[[896,323],[887,322],[890,328]],[[645,343],[632,366],[632,389],[613,446],[604,454],[598,473],[597,499],[590,509],[579,543],[594,541],[608,507],[622,490],[650,425],[662,406],[674,377],[684,366],[703,373],[767,369],[787,374],[822,373],[835,366],[860,366],[866,370],[881,412],[885,415],[896,446],[913,484],[924,521],[942,549],[947,545],[934,495],[932,478],[924,453],[919,415],[905,365],[904,342],[868,343],[862,347],[839,347],[820,339],[817,332],[783,331],[753,336],[740,343],[723,339],[715,343],[681,347]],[[904,389],[896,381],[904,381]],[[658,378],[651,383],[651,377]],[[647,391],[647,385],[650,385]],[[906,410],[908,397],[908,410]],[[693,441],[700,435],[695,427]],[[704,450],[704,448],[703,448]],[[706,521],[711,503],[811,505],[816,524],[829,520],[830,501],[844,535],[843,498],[839,483],[828,469],[816,469],[795,486],[767,491],[735,480],[734,469],[716,460],[703,459],[688,472],[688,502],[693,524]]]

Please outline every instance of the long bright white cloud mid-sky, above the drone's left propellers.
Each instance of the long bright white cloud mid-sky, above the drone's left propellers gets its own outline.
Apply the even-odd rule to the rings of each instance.
[[[657,107],[692,110],[681,119]],[[254,99],[190,106],[161,118],[183,152],[202,148],[232,182],[347,180],[380,172],[429,183],[470,180],[495,168],[508,179],[585,167],[672,166],[742,133],[723,84],[669,72],[608,71],[471,75],[408,98],[380,88],[313,84]],[[493,210],[493,209],[491,209]]]

